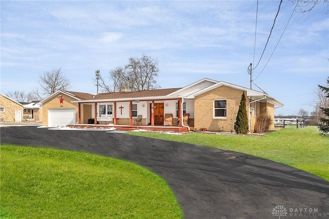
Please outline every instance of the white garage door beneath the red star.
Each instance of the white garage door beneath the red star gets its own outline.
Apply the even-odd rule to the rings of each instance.
[[[76,124],[76,109],[49,109],[48,112],[48,126],[57,127],[68,124]]]

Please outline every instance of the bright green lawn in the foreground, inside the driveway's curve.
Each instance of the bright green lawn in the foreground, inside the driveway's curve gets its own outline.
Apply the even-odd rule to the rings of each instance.
[[[1,146],[0,218],[182,218],[166,182],[118,159]]]

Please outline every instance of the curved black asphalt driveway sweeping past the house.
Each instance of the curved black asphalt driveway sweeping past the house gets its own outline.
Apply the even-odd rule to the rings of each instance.
[[[185,218],[329,217],[328,181],[258,157],[103,131],[10,126],[1,127],[0,136],[1,144],[84,151],[137,163],[167,181]]]

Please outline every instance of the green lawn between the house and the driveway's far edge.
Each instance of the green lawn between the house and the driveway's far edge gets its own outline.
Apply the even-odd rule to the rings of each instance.
[[[302,129],[289,126],[264,136],[206,133],[168,135],[148,132],[129,134],[199,144],[263,157],[313,173],[329,181],[329,137],[322,136],[315,126]]]

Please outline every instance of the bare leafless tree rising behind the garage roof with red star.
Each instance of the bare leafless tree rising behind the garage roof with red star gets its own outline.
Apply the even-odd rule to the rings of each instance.
[[[39,76],[39,85],[41,88],[34,89],[33,94],[43,99],[43,97],[52,95],[57,90],[66,90],[70,87],[70,81],[64,76],[61,68],[58,68],[46,71]]]

